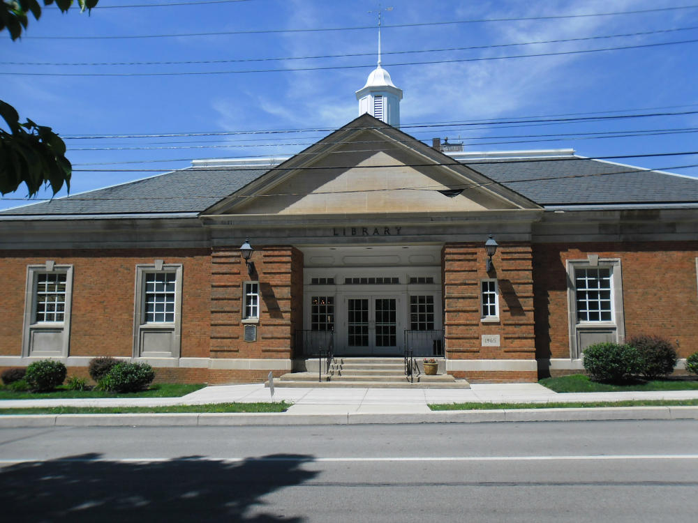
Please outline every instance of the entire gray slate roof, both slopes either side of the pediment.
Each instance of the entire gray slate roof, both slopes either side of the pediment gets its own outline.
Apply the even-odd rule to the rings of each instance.
[[[542,206],[698,203],[698,179],[599,160],[478,160],[466,165]],[[189,167],[144,180],[40,202],[2,215],[200,213],[266,169]]]

